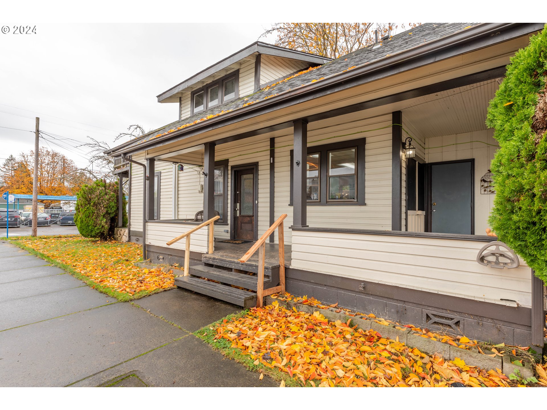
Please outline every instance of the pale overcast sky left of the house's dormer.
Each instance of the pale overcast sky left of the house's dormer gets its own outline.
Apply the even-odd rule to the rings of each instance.
[[[44,24],[36,35],[0,34],[0,55],[9,56],[0,66],[0,161],[34,148],[35,116],[44,132],[82,142],[89,135],[111,147],[131,124],[149,131],[177,120],[178,104],[155,96],[256,41],[268,26]],[[85,147],[51,148],[88,165]]]

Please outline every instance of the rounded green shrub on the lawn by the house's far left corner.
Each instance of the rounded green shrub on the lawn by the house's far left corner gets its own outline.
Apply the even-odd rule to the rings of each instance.
[[[86,238],[108,239],[118,226],[118,183],[96,180],[84,185],[76,194],[74,222]],[[123,204],[123,226],[127,226],[126,200]]]

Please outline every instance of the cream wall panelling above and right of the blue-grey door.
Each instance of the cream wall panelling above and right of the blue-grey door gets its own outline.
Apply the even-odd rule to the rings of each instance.
[[[475,235],[486,235],[488,215],[495,196],[480,193],[480,179],[490,169],[490,162],[498,149],[493,134],[493,130],[488,129],[426,139],[427,162],[475,159]]]

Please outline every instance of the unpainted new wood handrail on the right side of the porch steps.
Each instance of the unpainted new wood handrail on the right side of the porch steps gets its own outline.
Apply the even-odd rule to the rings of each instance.
[[[262,307],[264,296],[272,295],[285,291],[285,241],[283,237],[283,220],[287,214],[281,215],[272,226],[270,226],[264,235],[241,257],[240,262],[247,262],[251,256],[258,250],[258,284],[257,284],[257,307]],[[279,237],[279,286],[270,289],[264,289],[264,263],[266,257],[266,238],[278,229]]]

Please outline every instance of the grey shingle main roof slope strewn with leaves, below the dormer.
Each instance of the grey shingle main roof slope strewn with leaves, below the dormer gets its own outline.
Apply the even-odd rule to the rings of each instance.
[[[129,147],[147,142],[148,140],[160,137],[170,132],[181,130],[182,128],[192,126],[210,118],[222,115],[226,112],[231,112],[238,108],[242,108],[254,102],[279,95],[283,92],[294,90],[302,85],[307,85],[320,81],[333,75],[347,72],[359,66],[369,64],[374,61],[381,60],[389,56],[393,56],[400,52],[421,46],[423,44],[438,40],[454,34],[466,28],[473,27],[477,23],[425,23],[414,27],[411,30],[395,34],[395,36],[383,40],[380,47],[373,48],[374,45],[369,45],[366,48],[353,51],[350,54],[336,58],[315,68],[304,70],[288,79],[279,81],[278,83],[264,87],[257,92],[248,96],[229,101],[219,106],[210,108],[205,111],[196,113],[182,120],[171,122],[164,127],[151,131],[144,136],[133,141]]]

